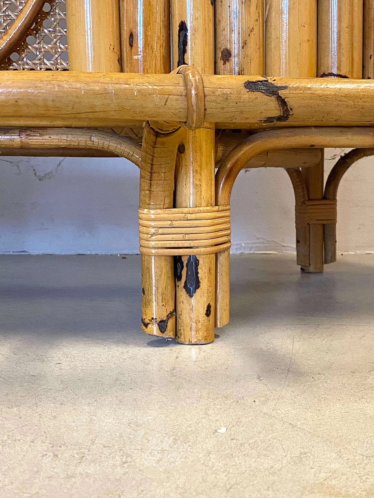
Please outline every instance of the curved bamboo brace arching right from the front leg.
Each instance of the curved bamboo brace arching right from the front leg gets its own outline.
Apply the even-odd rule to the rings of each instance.
[[[217,206],[230,204],[231,190],[233,184],[246,164],[255,155],[265,150],[282,148],[304,148],[304,147],[374,147],[374,129],[370,127],[352,128],[289,128],[263,131],[249,136],[244,142],[234,147],[222,160],[215,175],[215,202]],[[288,171],[290,175],[290,171]],[[292,172],[293,184],[301,181],[300,176],[296,178]],[[299,175],[297,173],[297,175]],[[294,185],[295,189],[295,185]],[[297,186],[299,189],[299,186]],[[295,190],[299,196],[298,190]],[[305,192],[304,194],[305,195]],[[298,197],[299,199],[299,197]],[[300,196],[301,199],[301,196]],[[305,234],[304,234],[305,236]],[[300,237],[300,239],[299,239]],[[298,233],[300,244],[306,245],[307,240],[301,238]],[[300,256],[302,257],[302,255]],[[217,275],[229,272],[229,251],[217,253]],[[230,293],[228,286],[220,286],[217,279],[216,306],[222,310],[217,311],[217,316],[227,316]],[[217,327],[222,327],[225,322],[217,322]]]

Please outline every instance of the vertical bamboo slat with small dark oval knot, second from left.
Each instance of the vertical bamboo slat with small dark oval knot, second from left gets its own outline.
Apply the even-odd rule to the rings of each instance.
[[[120,0],[122,71],[169,73],[170,2]]]

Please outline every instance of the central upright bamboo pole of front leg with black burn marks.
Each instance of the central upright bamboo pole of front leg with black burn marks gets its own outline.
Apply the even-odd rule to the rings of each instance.
[[[214,7],[210,1],[173,1],[173,65],[214,73]],[[176,169],[176,208],[214,205],[214,123],[182,130]],[[176,258],[176,340],[206,344],[214,340],[215,254]]]

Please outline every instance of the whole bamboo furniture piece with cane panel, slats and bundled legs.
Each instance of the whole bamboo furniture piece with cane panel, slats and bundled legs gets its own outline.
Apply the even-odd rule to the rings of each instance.
[[[286,170],[305,271],[336,259],[339,183],[374,154],[373,33],[374,0],[0,0],[0,155],[140,167],[142,330],[210,343],[242,168]],[[325,187],[324,147],[354,148]]]

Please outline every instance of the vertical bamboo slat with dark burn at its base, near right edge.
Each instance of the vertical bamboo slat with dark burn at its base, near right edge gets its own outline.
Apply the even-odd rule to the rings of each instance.
[[[318,0],[318,76],[362,74],[363,0]]]

